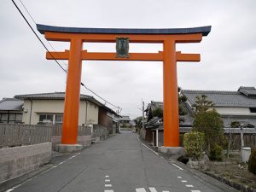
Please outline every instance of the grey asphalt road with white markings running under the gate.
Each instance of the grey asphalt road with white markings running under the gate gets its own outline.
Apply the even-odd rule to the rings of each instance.
[[[236,191],[146,148],[123,131],[53,166],[9,191],[14,192],[222,192]]]

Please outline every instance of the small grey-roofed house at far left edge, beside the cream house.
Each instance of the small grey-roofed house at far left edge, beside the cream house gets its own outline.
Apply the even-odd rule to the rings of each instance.
[[[0,123],[22,123],[23,101],[15,98],[3,98],[0,101]]]

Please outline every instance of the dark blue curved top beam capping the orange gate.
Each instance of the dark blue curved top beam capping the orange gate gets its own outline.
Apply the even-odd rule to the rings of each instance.
[[[64,26],[44,26],[37,24],[38,32],[73,32],[73,33],[104,33],[104,34],[191,34],[202,33],[207,36],[212,26],[200,26],[194,28],[171,28],[171,29],[121,29],[121,28],[79,28]]]

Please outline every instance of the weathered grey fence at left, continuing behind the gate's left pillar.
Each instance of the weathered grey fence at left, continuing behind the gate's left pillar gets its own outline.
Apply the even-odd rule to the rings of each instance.
[[[79,136],[90,136],[90,126],[79,126]],[[61,137],[61,125],[0,124],[0,148],[52,142]]]

